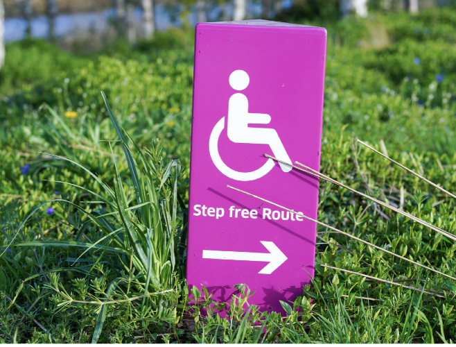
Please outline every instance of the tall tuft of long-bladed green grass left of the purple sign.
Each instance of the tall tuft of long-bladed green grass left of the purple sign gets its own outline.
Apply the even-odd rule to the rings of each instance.
[[[104,94],[103,97],[105,98]],[[80,221],[81,226],[79,232],[74,235],[75,241],[41,240],[13,244],[13,238],[10,244],[8,244],[8,247],[53,246],[76,247],[81,251],[83,250],[73,260],[73,264],[77,264],[84,260],[85,256],[89,254],[93,255],[97,251],[101,252],[102,255],[105,252],[114,255],[116,262],[113,265],[121,269],[123,276],[114,278],[109,284],[107,291],[103,289],[103,285],[95,285],[96,291],[99,294],[105,295],[104,301],[98,299],[97,296],[89,294],[87,295],[91,297],[91,301],[73,299],[71,294],[60,284],[58,276],[52,276],[51,283],[46,285],[46,288],[55,291],[61,297],[58,306],[73,304],[98,305],[99,313],[92,339],[93,342],[98,341],[100,337],[100,332],[107,316],[108,305],[131,303],[132,301],[142,299],[141,312],[145,314],[150,310],[150,306],[148,308],[145,306],[146,303],[150,305],[149,301],[154,300],[152,296],[177,291],[177,288],[182,289],[179,287],[182,286],[182,281],[179,278],[183,277],[183,242],[185,242],[186,237],[186,226],[184,224],[186,210],[178,192],[179,183],[182,180],[180,176],[181,167],[178,160],[172,160],[165,166],[159,155],[161,153],[161,144],[159,142],[152,142],[151,151],[141,150],[137,144],[131,142],[142,164],[141,170],[137,160],[133,157],[134,152],[130,150],[130,146],[128,145],[127,139],[131,141],[131,138],[119,126],[114,115],[112,115],[112,110],[109,108],[107,101],[106,107],[119,137],[119,140],[114,141],[114,144],[119,143],[122,146],[128,162],[134,195],[131,196],[130,189],[123,185],[124,179],[115,163],[116,176],[114,178],[114,187],[109,187],[98,176],[80,164],[56,156],[56,158],[69,160],[72,164],[81,167],[103,187],[104,192],[101,194],[96,194],[89,189],[79,187],[98,199],[98,201],[92,201],[92,205],[101,205],[103,208],[87,211],[86,208],[66,199],[48,201],[46,203],[58,202],[62,205],[73,205],[76,210],[85,215],[85,219],[81,219]],[[60,183],[65,184],[63,182]],[[69,183],[69,185],[73,184]],[[46,205],[46,203],[42,205]],[[39,208],[36,208],[29,214],[24,223]],[[24,223],[22,226],[24,226]],[[100,230],[98,233],[99,238],[94,240],[94,242],[82,242],[81,239],[85,236],[83,233],[89,223],[93,223]],[[21,227],[19,227],[18,232],[21,230]],[[89,264],[78,269],[84,269],[83,272],[86,273],[86,277],[91,276],[92,270],[98,266],[98,260],[95,262],[89,261]],[[62,271],[62,269],[55,269],[55,271]],[[128,276],[125,273],[128,273]],[[127,290],[123,294],[120,294],[121,298],[119,299],[116,289],[121,284],[126,285]],[[131,296],[130,287],[132,285],[139,287],[137,290],[142,291],[141,295]],[[16,297],[19,295],[22,286],[19,287]],[[152,291],[155,292],[152,293]],[[168,315],[166,319],[173,321],[177,319],[176,307],[170,310],[172,314]],[[162,314],[163,312],[160,313]]]

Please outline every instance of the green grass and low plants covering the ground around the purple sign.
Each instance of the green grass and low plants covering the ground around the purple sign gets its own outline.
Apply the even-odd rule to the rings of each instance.
[[[356,138],[452,192],[456,10],[321,24],[322,173],[454,233],[452,198]],[[381,48],[368,44],[372,28],[387,33]],[[256,294],[240,285],[228,319],[220,318],[225,304],[186,287],[192,35],[160,33],[91,56],[40,41],[8,45],[0,72],[1,341],[455,342],[456,282],[324,226],[313,285],[281,303],[285,317],[247,308]],[[318,220],[456,277],[452,239],[324,180]]]

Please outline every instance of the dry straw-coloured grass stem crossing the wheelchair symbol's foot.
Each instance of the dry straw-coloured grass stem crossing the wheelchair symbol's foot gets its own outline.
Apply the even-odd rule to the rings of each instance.
[[[274,157],[272,157],[271,155],[268,155],[268,154],[265,154],[265,157],[270,158],[272,160],[276,160],[277,162],[283,162],[282,160],[274,158]],[[283,162],[283,163],[289,165],[288,162]],[[385,208],[389,208],[389,210],[393,210],[394,212],[397,212],[398,214],[402,214],[403,216],[412,219],[412,221],[416,221],[416,223],[420,223],[423,226],[427,226],[428,228],[430,228],[432,230],[440,232],[442,235],[448,237],[449,239],[453,239],[453,241],[456,241],[456,236],[455,235],[450,234],[450,232],[442,230],[441,228],[437,228],[437,226],[433,226],[431,223],[428,223],[427,221],[423,221],[422,219],[414,217],[413,214],[407,213],[407,212],[405,212],[403,210],[399,210],[398,208],[395,208],[392,205],[384,203],[383,201],[380,201],[380,200],[378,200],[376,198],[373,198],[373,197],[371,197],[371,196],[369,196],[367,194],[358,192],[357,190],[355,190],[355,189],[353,189],[353,188],[351,188],[351,187],[349,187],[347,185],[344,185],[343,183],[337,182],[337,180],[334,180],[331,177],[328,177],[328,176],[326,176],[324,174],[321,174],[318,171],[315,171],[314,169],[311,169],[310,167],[307,167],[306,165],[301,164],[300,162],[296,162],[296,164],[299,164],[299,165],[301,165],[302,167],[305,168],[305,169],[302,169],[301,167],[296,167],[295,165],[292,165],[293,168],[295,168],[295,169],[297,169],[299,171],[302,171],[302,172],[304,172],[306,174],[315,176],[317,178],[323,178],[324,180],[327,180],[330,183],[333,183],[335,185],[339,185],[342,188],[345,188],[345,189],[347,189],[347,190],[349,190],[349,191],[351,191],[353,193],[356,193],[356,194],[358,194],[358,195],[360,195],[360,196],[362,196],[364,198],[368,198],[369,200],[374,201],[374,203],[378,203],[378,205],[382,205]]]

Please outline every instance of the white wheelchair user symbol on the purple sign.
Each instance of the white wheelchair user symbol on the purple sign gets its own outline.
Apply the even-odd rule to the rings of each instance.
[[[243,70],[236,70],[229,76],[229,85],[234,90],[245,90],[249,85],[249,75]],[[249,113],[249,101],[244,94],[236,93],[229,98],[227,135],[228,138],[239,144],[268,144],[274,157],[291,163],[283,147],[277,131],[270,128],[249,128],[249,124],[269,124],[270,115]],[[274,160],[268,159],[260,169],[250,172],[239,172],[228,167],[218,153],[218,139],[225,128],[225,117],[222,117],[212,129],[209,138],[209,153],[217,169],[225,176],[234,180],[257,180],[268,174],[274,167]],[[279,162],[284,172],[292,169],[290,165]]]

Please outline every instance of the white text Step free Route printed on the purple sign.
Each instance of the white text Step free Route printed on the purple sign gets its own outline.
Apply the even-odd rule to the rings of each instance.
[[[257,219],[258,218],[258,210],[247,210],[247,208],[236,208],[236,206],[231,206],[228,209],[229,213],[227,217],[229,218],[250,218],[250,219]],[[290,211],[277,211],[271,210],[270,208],[263,208],[260,211],[261,219],[274,219],[274,221],[278,221],[281,219],[282,221],[303,221],[303,217],[294,214]],[[302,213],[302,212],[297,212]],[[211,208],[207,207],[206,205],[194,205],[193,206],[193,216],[202,216],[202,217],[215,217],[216,219],[222,218],[225,216],[225,209],[224,208]]]

